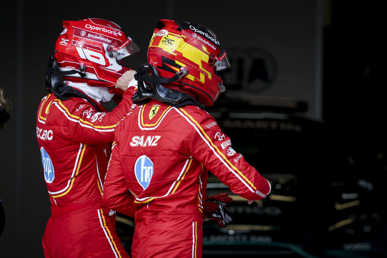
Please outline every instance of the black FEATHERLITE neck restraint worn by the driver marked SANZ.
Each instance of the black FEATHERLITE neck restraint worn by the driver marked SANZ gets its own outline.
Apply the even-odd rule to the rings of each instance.
[[[142,64],[139,67],[134,78],[137,80],[137,92],[133,95],[132,100],[136,104],[144,104],[150,98],[168,103],[173,107],[184,107],[187,105],[195,105],[204,110],[205,105],[200,104],[193,96],[165,88],[161,83],[173,83],[183,76],[188,74],[188,69],[183,67],[180,72],[176,72],[171,78],[159,77],[156,68],[151,64]],[[144,82],[149,83],[152,88],[146,87]]]

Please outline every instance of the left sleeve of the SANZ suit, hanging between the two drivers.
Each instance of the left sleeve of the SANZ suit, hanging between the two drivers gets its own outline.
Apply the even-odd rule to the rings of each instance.
[[[119,146],[113,143],[108,172],[105,176],[102,199],[106,207],[134,217],[134,198],[130,193],[119,161]]]

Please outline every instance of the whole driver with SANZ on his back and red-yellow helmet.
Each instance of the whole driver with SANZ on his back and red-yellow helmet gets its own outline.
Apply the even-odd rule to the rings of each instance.
[[[224,91],[217,71],[229,67],[216,35],[161,20],[147,60],[135,76],[139,106],[115,130],[103,200],[127,215],[134,206],[132,258],[202,257],[208,170],[249,204],[271,186],[204,111]]]

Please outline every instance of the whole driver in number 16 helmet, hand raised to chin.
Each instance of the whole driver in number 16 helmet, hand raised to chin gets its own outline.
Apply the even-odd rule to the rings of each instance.
[[[115,126],[135,107],[135,71],[122,58],[137,51],[114,22],[63,21],[46,74],[49,94],[36,117],[51,202],[42,241],[45,257],[129,257],[102,191]],[[113,96],[119,103],[107,112],[100,102]]]

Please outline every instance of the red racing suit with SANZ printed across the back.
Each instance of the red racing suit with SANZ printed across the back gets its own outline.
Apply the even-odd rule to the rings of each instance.
[[[208,170],[248,200],[271,189],[200,108],[151,100],[125,116],[115,130],[103,200],[127,215],[134,202],[132,258],[202,256]]]

